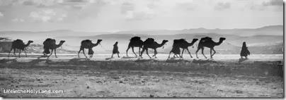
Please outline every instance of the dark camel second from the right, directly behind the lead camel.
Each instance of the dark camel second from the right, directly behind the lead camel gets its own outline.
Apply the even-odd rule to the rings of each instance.
[[[183,49],[182,54],[181,55],[179,54],[180,58],[183,58],[183,52],[185,51],[185,49],[187,49],[188,53],[190,54],[188,47],[193,46],[193,44],[195,44],[195,42],[197,42],[197,41],[198,41],[198,39],[193,39],[192,42],[188,43],[187,41],[185,41],[185,39],[175,39],[173,46]],[[171,54],[171,52],[173,52],[172,50],[170,51],[170,54]],[[175,48],[174,50],[176,50],[178,53],[178,50],[180,50],[180,49]],[[170,57],[170,54],[169,54],[169,57]],[[190,54],[190,58],[193,58],[193,56],[191,54]]]

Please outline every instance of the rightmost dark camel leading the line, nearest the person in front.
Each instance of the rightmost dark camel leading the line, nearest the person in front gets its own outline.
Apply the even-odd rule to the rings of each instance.
[[[198,51],[200,51],[200,49],[202,49],[202,55],[205,56],[204,47],[207,47],[207,48],[210,48],[210,58],[212,58],[212,56],[214,56],[214,54],[216,53],[216,51],[214,51],[214,46],[219,46],[220,44],[222,44],[222,42],[225,39],[226,38],[224,38],[224,37],[220,37],[219,42],[214,42],[214,41],[212,41],[211,37],[202,37],[200,39],[199,44],[198,44],[198,50],[195,51],[195,55],[198,58]],[[212,51],[214,51],[214,54],[212,54]],[[207,58],[207,56],[205,56],[205,58]]]

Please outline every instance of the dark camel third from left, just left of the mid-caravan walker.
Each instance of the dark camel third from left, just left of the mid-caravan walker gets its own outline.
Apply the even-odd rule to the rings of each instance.
[[[96,44],[93,44],[91,42],[91,40],[89,40],[89,39],[85,39],[85,40],[81,41],[81,47],[79,49],[77,56],[79,57],[79,53],[81,51],[84,53],[84,49],[92,50],[92,48],[94,46],[98,46],[98,44],[101,44],[101,41],[102,41],[102,39],[98,39]],[[86,54],[84,54],[84,56],[86,56]],[[92,56],[93,56],[93,53],[92,53],[92,55],[90,55],[90,57],[92,57]],[[87,58],[87,56],[86,56],[86,58]]]

